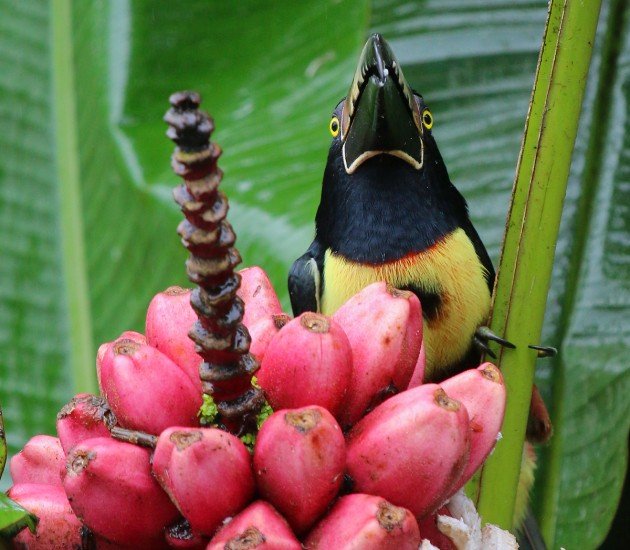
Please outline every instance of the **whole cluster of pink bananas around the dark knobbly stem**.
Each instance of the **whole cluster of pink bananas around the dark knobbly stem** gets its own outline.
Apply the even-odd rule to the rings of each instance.
[[[253,451],[200,427],[190,292],[154,297],[142,335],[97,354],[100,396],[63,407],[58,437],[11,461],[9,496],[35,513],[20,545],[73,548],[450,548],[435,514],[492,451],[505,407],[485,363],[422,384],[418,298],[375,283],[332,317],[291,319],[260,268],[241,271],[243,319],[276,411]],[[146,448],[112,428],[142,432]],[[83,542],[82,542],[83,541]]]

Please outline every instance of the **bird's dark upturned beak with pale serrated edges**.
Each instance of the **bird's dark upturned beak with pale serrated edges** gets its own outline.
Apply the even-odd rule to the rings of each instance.
[[[422,167],[422,124],[413,92],[389,44],[372,35],[359,59],[343,105],[341,138],[346,172],[389,154]]]

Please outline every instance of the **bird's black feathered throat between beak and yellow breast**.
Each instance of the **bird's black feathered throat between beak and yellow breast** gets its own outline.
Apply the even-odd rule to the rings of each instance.
[[[320,242],[336,254],[380,264],[430,248],[466,216],[462,196],[436,173],[418,172],[391,155],[379,155],[348,176],[331,154],[316,230]]]

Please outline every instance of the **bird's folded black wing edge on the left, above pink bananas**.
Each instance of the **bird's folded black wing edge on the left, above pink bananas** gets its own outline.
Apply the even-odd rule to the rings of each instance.
[[[324,286],[324,246],[315,239],[289,271],[289,297],[296,317],[305,311],[320,311]]]

